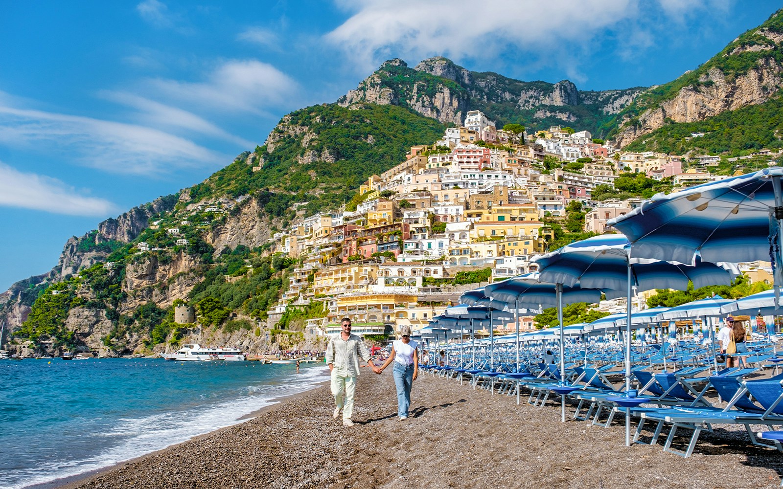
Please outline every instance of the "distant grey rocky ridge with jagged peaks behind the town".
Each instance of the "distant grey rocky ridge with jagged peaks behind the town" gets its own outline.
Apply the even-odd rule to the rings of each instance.
[[[337,103],[356,102],[406,107],[444,124],[463,123],[469,110],[481,110],[498,127],[522,124],[529,129],[572,125],[604,135],[616,114],[644,88],[580,91],[571,81],[518,81],[500,74],[478,73],[449,59],[424,59],[410,68],[391,59]]]

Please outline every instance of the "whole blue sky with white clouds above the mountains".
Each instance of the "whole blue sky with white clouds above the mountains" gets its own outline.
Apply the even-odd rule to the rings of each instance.
[[[582,90],[671,81],[778,2],[0,0],[0,291],[201,182],[386,59]]]

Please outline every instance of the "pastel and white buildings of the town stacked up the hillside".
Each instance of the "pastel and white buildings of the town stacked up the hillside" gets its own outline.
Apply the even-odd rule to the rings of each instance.
[[[548,222],[565,218],[572,203],[587,210],[581,231],[596,234],[639,206],[641,198],[592,199],[598,185],[614,188],[622,173],[669,178],[674,189],[726,178],[709,171],[718,156],[687,156],[687,171],[685,160],[623,152],[560,126],[503,130],[471,111],[463,126],[373,174],[352,203],[309,217],[300,211],[300,220],[271,237],[272,250],[301,265],[269,310],[269,325],[290,307],[321,301],[327,317],[309,319],[308,333],[338,333],[344,316],[362,335],[394,336],[402,325],[417,331],[478,282],[536,271],[531,257],[554,238]],[[768,279],[764,264],[744,269],[751,280]],[[519,326],[533,329],[533,317]]]

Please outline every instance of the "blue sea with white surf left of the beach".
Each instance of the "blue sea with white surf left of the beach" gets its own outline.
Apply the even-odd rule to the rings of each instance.
[[[328,371],[163,358],[0,361],[0,488],[101,469],[244,422]]]

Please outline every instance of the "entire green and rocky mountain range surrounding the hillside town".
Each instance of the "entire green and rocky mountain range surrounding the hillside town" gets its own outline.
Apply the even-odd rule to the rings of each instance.
[[[301,346],[301,329],[267,329],[267,338],[258,327],[297,264],[270,254],[269,238],[352,200],[366,178],[402,162],[410,146],[435,142],[470,110],[529,131],[586,129],[630,149],[783,146],[780,16],[652,88],[586,92],[567,80],[473,72],[442,57],[413,68],[391,59],[337,102],[287,114],[264,145],[204,182],[69,239],[52,271],[0,294],[0,321],[36,344],[52,337],[60,351],[149,354],[202,339],[251,351]],[[173,321],[183,300],[197,304],[200,326]],[[307,307],[280,324],[299,327],[319,314]]]

